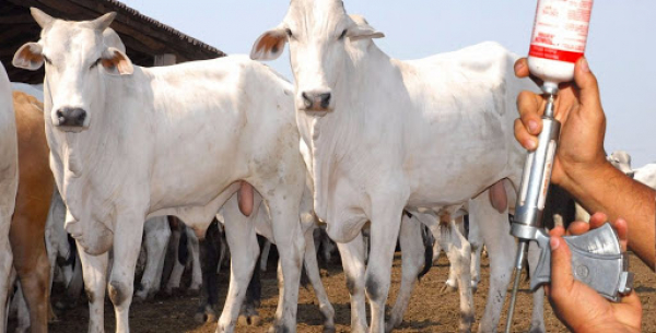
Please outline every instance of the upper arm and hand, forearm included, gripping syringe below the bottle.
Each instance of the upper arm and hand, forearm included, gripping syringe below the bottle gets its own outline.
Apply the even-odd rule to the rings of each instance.
[[[527,60],[515,63],[515,74],[529,75]],[[629,248],[652,270],[656,260],[656,191],[632,180],[606,160],[604,138],[606,116],[597,79],[585,58],[576,62],[574,83],[562,84],[555,102],[561,135],[551,180],[567,190],[590,212],[605,212],[610,219],[629,222]],[[523,92],[517,98],[520,118],[515,138],[535,150],[542,129],[542,96]]]

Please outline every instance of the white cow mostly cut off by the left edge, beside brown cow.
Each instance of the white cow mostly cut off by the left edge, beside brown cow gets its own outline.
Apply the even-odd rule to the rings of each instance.
[[[0,332],[5,332],[12,251],[9,227],[19,187],[19,143],[9,78],[0,63]]]

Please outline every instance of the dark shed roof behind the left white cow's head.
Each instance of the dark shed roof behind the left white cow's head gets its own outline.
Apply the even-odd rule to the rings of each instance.
[[[152,67],[190,60],[223,57],[221,50],[141,14],[117,0],[1,0],[0,1],[0,61],[12,82],[43,83],[44,69],[26,71],[11,64],[14,52],[27,41],[38,40],[40,27],[30,8],[71,21],[93,20],[107,12],[116,12],[112,23],[126,45],[133,63]]]

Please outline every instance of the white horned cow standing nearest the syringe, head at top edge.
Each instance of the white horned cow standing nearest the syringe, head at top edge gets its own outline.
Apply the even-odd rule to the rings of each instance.
[[[480,330],[493,331],[515,248],[500,181],[509,179],[515,190],[519,185],[526,152],[513,134],[515,100],[537,87],[515,78],[516,56],[497,44],[399,61],[371,40],[383,36],[350,17],[342,1],[293,0],[250,56],[274,59],[290,43],[297,122],[313,157],[315,212],[328,223],[330,238],[350,241],[371,219],[371,331],[384,330],[403,209],[441,209],[472,198],[470,214],[490,226],[481,228],[491,288]],[[470,324],[461,321],[461,329]]]

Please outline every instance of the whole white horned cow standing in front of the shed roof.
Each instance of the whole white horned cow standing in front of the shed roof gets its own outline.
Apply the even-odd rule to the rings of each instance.
[[[306,170],[292,86],[246,57],[133,66],[103,36],[114,13],[85,22],[57,20],[37,9],[32,14],[43,28],[40,39],[23,45],[13,63],[28,70],[46,63],[46,134],[68,207],[66,229],[84,249],[89,330],[104,331],[112,246],[108,293],[117,332],[128,332],[145,218],[176,215],[202,237],[237,191],[243,212],[250,213],[253,186],[269,206],[284,275],[276,329],[293,331]],[[218,331],[231,331],[235,320],[222,318]]]

